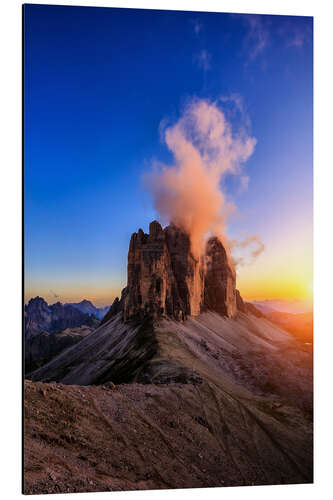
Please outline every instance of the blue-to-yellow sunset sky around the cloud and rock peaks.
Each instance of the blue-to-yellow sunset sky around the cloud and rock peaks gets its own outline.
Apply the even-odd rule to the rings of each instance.
[[[226,180],[248,300],[312,296],[312,18],[25,6],[26,300],[112,302],[129,238],[157,217],[142,175],[169,162],[160,123],[236,96],[254,153]]]

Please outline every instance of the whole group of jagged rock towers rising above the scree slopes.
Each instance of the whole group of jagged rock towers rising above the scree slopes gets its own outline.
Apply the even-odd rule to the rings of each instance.
[[[213,310],[231,317],[237,311],[236,278],[218,238],[207,242],[198,260],[189,235],[171,224],[154,221],[149,234],[132,234],[128,251],[127,287],[116,299],[105,322],[120,310],[125,321],[169,316],[178,321]]]

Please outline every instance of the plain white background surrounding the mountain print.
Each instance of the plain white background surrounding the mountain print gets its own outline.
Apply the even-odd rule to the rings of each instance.
[[[29,2],[28,2],[29,3]],[[314,16],[315,94],[315,484],[128,493],[65,498],[131,500],[332,498],[333,493],[333,2],[329,0],[111,0],[30,3]],[[0,494],[21,496],[21,2],[2,0],[0,26]],[[84,497],[82,496],[84,495]],[[94,496],[91,496],[94,495]],[[35,497],[35,496],[34,496]],[[44,497],[44,495],[38,498]],[[50,498],[50,497],[48,497]]]

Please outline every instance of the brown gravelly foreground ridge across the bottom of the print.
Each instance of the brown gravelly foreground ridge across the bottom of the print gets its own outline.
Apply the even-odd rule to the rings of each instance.
[[[212,383],[25,382],[24,493],[305,483],[312,426]]]

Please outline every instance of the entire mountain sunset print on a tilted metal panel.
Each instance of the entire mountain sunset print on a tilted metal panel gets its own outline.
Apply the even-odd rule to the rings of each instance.
[[[23,6],[25,494],[313,482],[313,18]]]

